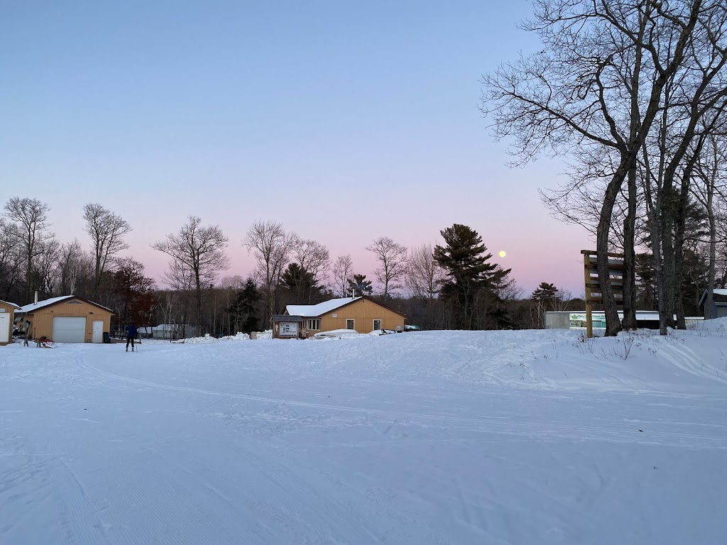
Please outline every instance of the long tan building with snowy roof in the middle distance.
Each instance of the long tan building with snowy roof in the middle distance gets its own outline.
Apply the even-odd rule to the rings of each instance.
[[[273,317],[273,337],[307,339],[334,329],[403,331],[405,321],[401,312],[368,297],[342,297],[318,304],[289,304],[284,315]]]

